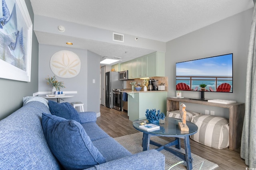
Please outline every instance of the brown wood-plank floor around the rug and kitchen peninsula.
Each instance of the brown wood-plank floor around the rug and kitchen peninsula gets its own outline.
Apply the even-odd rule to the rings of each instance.
[[[132,121],[129,121],[127,112],[109,109],[102,105],[100,105],[100,117],[97,118],[96,123],[111,137],[120,137],[139,132],[132,127]],[[162,137],[162,139],[166,141],[173,140],[170,137]],[[184,148],[182,139],[181,143],[182,148]],[[245,170],[246,167],[248,168],[244,164],[244,160],[240,158],[240,148],[236,150],[228,148],[214,149],[191,139],[190,147],[192,153],[218,164],[219,167],[216,170]]]

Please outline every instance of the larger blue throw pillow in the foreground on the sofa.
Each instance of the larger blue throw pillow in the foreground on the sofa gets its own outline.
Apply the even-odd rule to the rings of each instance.
[[[86,169],[106,162],[80,123],[42,113],[42,128],[52,153],[65,169]]]

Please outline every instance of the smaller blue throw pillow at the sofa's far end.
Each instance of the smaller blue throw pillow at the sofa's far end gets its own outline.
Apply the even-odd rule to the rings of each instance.
[[[52,115],[63,117],[68,120],[75,120],[81,123],[78,112],[70,103],[57,103],[52,100],[49,100],[48,105]]]

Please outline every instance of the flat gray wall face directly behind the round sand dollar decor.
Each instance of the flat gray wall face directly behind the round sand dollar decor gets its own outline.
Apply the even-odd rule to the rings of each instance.
[[[52,91],[52,86],[48,85],[45,78],[52,77],[54,73],[50,68],[50,59],[54,53],[68,50],[76,53],[81,61],[80,73],[73,78],[60,78],[56,76],[58,81],[64,82],[66,88],[61,88],[62,91],[77,91],[72,98],[63,98],[60,102],[83,102],[84,109],[87,109],[86,96],[87,96],[87,50],[64,48],[53,45],[39,44],[39,66],[38,66],[38,91],[47,92]],[[56,99],[53,99],[56,101]]]

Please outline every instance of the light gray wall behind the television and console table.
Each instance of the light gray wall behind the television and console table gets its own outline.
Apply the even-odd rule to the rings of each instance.
[[[253,9],[219,21],[166,43],[168,96],[176,96],[175,63],[233,53],[233,93],[205,92],[206,99],[236,100],[245,103],[248,43]],[[182,91],[182,96],[200,98],[200,92]],[[228,117],[227,109],[186,104],[188,110]]]

